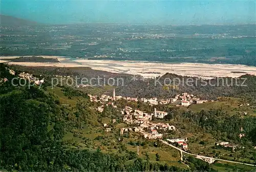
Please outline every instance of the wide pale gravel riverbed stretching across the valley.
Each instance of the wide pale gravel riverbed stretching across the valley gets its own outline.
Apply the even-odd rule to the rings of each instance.
[[[244,74],[256,75],[256,67],[245,65],[227,64],[205,64],[205,63],[162,63],[132,60],[87,60],[70,59],[59,56],[42,56],[44,58],[57,58],[60,62],[8,62],[9,65],[31,66],[31,67],[90,67],[93,70],[107,71],[112,73],[123,73],[141,75],[145,78],[162,76],[165,73],[173,73],[182,76],[201,77],[210,79],[212,77],[239,77]],[[10,57],[1,57],[4,59]],[[1,61],[0,61],[1,62]]]

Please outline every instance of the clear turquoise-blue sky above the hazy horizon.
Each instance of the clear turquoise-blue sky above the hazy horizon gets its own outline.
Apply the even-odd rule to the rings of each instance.
[[[1,13],[39,23],[246,24],[255,1],[2,0]]]

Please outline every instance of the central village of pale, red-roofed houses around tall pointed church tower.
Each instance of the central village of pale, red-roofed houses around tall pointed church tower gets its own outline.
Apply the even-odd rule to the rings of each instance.
[[[133,98],[133,97],[122,97],[116,96],[115,89],[113,89],[113,96],[109,95],[88,95],[90,97],[90,101],[94,101],[100,103],[101,106],[96,107],[96,110],[99,112],[103,112],[104,106],[111,105],[117,109],[117,105],[115,105],[115,101],[119,99],[124,99],[126,101],[142,101],[144,103],[149,103],[151,106],[158,104],[168,104],[175,103],[176,106],[189,106],[190,104],[198,104],[204,103],[208,100],[200,100],[196,96],[188,93],[178,94],[173,98],[169,99],[157,99],[153,98]],[[146,139],[162,139],[163,134],[168,131],[176,131],[176,127],[174,125],[170,125],[169,123],[163,122],[153,122],[152,119],[164,119],[167,112],[158,111],[154,108],[153,113],[145,113],[138,109],[133,109],[130,106],[125,106],[123,109],[118,109],[120,115],[122,116],[122,122],[126,123],[131,127],[121,128],[120,134],[123,135],[126,132],[139,132]],[[112,122],[115,123],[116,119],[112,119]],[[108,124],[103,123],[106,132],[110,132],[113,128],[110,128]],[[172,140],[168,140],[170,143],[175,143],[180,146],[182,149],[187,150],[188,144],[186,143],[186,138],[174,138]]]

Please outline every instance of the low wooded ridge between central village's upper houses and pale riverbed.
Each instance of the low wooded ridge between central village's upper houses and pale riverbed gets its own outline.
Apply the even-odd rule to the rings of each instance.
[[[190,80],[189,85],[187,80]],[[203,80],[166,73],[156,79],[129,82],[116,90],[120,95],[131,97],[172,97],[178,93],[189,92],[203,99],[217,99],[220,96],[246,97],[256,103],[255,85],[256,76],[253,75],[243,75],[236,81],[229,77]]]

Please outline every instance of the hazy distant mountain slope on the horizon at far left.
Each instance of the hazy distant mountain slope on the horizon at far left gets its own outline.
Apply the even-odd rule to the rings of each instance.
[[[0,24],[1,26],[26,26],[26,25],[36,25],[36,22],[22,19],[22,18],[16,18],[8,15],[2,15],[0,14]]]

